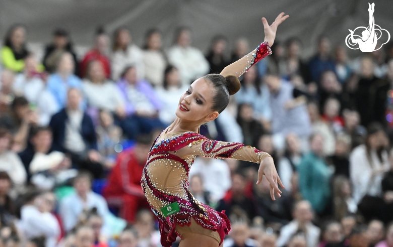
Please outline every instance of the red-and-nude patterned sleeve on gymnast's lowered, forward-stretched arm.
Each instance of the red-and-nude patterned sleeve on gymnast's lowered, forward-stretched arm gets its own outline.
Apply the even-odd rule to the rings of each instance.
[[[266,157],[271,157],[266,152],[242,143],[210,140],[196,133],[186,140],[184,146],[178,150],[178,155],[181,157],[202,155],[216,159],[236,159],[259,164]]]

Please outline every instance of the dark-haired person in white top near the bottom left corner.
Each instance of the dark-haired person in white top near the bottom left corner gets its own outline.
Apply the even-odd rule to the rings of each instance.
[[[26,195],[26,204],[21,208],[21,219],[17,223],[19,231],[27,238],[44,235],[45,247],[56,246],[60,235],[60,225],[51,213],[54,203],[44,193],[32,191]]]

